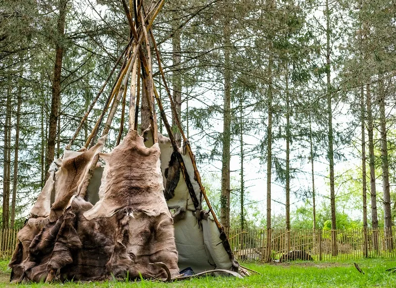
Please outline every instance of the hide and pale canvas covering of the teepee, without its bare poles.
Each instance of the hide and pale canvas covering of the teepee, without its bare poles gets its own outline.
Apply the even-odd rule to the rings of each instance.
[[[190,158],[180,149],[199,207],[195,209],[170,140],[129,130],[110,153],[106,136],[89,150],[65,150],[18,233],[11,281],[166,278],[191,267],[246,275],[225,234],[201,209]],[[86,193],[84,180],[99,154]],[[170,212],[173,211],[173,213]],[[157,263],[157,264],[155,264]],[[159,264],[158,264],[159,263]]]

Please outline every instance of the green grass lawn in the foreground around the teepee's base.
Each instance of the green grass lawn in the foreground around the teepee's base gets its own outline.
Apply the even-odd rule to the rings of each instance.
[[[286,264],[248,264],[261,275],[252,275],[244,279],[232,277],[204,277],[174,283],[158,282],[95,282],[64,284],[8,284],[9,271],[7,261],[0,261],[0,287],[39,288],[39,287],[98,287],[98,288],[173,288],[173,287],[206,287],[206,288],[243,288],[243,287],[396,287],[396,273],[385,271],[396,267],[396,259],[361,259],[356,261],[365,275],[354,267],[353,261],[342,262],[293,262]]]

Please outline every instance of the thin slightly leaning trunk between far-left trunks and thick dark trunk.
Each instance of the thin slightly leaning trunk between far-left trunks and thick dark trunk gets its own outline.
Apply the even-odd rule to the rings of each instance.
[[[11,200],[11,222],[10,227],[15,226],[15,205],[16,189],[18,184],[18,152],[19,152],[19,123],[21,119],[22,87],[18,88],[18,102],[16,106],[16,128],[15,128],[15,149],[14,149],[14,175],[12,178],[12,200]]]

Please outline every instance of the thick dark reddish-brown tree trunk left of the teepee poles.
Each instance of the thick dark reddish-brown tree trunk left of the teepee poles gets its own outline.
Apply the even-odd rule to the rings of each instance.
[[[55,155],[56,124],[58,122],[58,111],[60,102],[60,78],[62,72],[63,43],[65,34],[65,18],[68,0],[59,1],[59,16],[57,20],[57,34],[60,40],[56,42],[55,66],[52,80],[51,112],[49,114],[49,132],[47,142],[47,165],[46,179],[49,177],[48,169]]]

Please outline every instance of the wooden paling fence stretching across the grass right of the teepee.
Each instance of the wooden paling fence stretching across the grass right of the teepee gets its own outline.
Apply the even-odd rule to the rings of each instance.
[[[386,237],[384,229],[368,230],[367,256],[395,257],[396,237],[392,237],[395,229],[392,232]],[[265,261],[267,233],[266,229],[230,230],[228,238],[236,258],[242,261]],[[270,236],[268,250],[273,260],[310,260],[312,257],[313,260],[333,261],[365,257],[362,228],[336,231],[273,229]],[[336,246],[335,252],[333,245]]]

